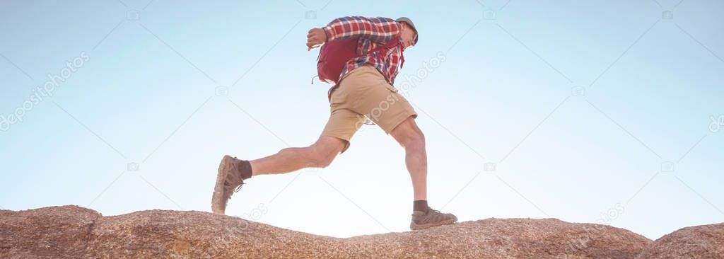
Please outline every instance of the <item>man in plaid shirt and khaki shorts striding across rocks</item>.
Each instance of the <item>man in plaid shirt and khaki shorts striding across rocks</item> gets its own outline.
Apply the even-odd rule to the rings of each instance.
[[[224,156],[211,199],[214,213],[224,215],[232,194],[248,178],[326,168],[349,148],[350,139],[369,118],[405,149],[414,191],[410,229],[458,221],[455,215],[427,205],[425,136],[415,123],[412,105],[392,86],[397,65],[402,68],[405,61],[403,51],[417,41],[417,29],[407,17],[340,17],[324,28],[309,30],[307,50],[321,46],[319,79],[334,84],[327,94],[331,110],[327,126],[309,147],[285,148],[258,160]]]

